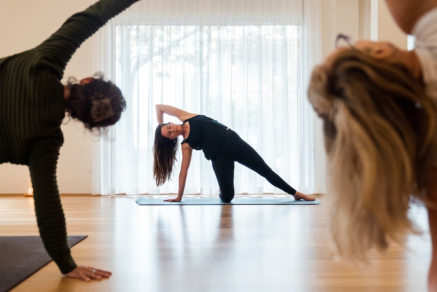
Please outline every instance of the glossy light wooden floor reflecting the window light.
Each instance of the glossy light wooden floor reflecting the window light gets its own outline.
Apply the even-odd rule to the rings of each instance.
[[[338,261],[320,205],[139,206],[135,198],[63,196],[79,265],[110,270],[102,281],[62,277],[52,262],[19,291],[426,291],[426,212],[411,208],[425,234],[372,254],[369,266]],[[0,196],[0,236],[38,235],[33,199]],[[1,252],[1,251],[0,251]]]

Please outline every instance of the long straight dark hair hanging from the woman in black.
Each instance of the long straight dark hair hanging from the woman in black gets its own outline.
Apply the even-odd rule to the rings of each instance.
[[[169,123],[158,125],[155,131],[155,143],[153,145],[153,178],[156,180],[157,186],[171,179],[174,161],[177,160],[176,153],[179,145],[177,137],[170,140],[161,134],[162,126],[167,124]]]

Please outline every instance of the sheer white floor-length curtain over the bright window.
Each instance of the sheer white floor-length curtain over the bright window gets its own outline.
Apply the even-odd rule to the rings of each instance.
[[[93,194],[177,192],[178,171],[164,186],[153,179],[156,104],[220,121],[290,185],[313,193],[306,86],[320,59],[320,1],[148,0],[108,23],[95,39],[95,68],[122,89],[127,110],[111,138],[94,144]],[[238,163],[235,190],[283,193]],[[218,193],[202,151],[193,151],[185,193]]]

